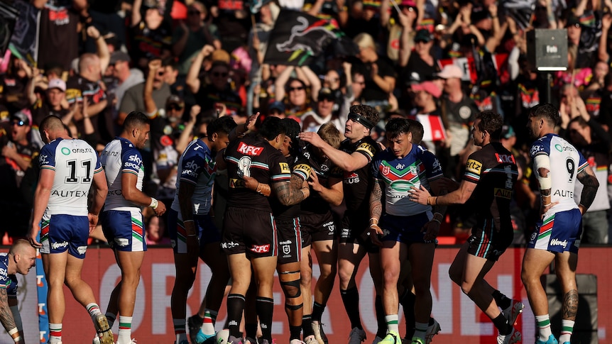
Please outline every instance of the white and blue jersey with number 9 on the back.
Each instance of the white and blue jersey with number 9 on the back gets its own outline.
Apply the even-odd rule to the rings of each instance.
[[[589,166],[589,162],[581,152],[559,135],[547,134],[535,140],[529,153],[534,161],[533,170],[536,173],[539,166],[535,162],[535,157],[547,155],[550,159],[550,178],[552,179],[550,196],[552,203],[559,202],[559,204],[552,206],[545,217],[553,213],[577,209],[578,206],[574,201],[577,175]]]

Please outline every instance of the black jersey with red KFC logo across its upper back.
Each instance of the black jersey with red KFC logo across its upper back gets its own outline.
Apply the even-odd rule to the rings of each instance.
[[[244,187],[244,176],[272,187],[289,182],[291,170],[283,153],[258,135],[246,135],[231,142],[224,152],[229,179],[227,206],[272,212],[266,196]],[[271,195],[274,196],[274,195]]]

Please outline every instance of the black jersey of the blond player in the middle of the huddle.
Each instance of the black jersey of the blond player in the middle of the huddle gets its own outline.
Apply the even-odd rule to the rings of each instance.
[[[312,169],[311,173],[316,173],[319,179],[319,184],[329,188],[329,178],[335,177],[340,179],[341,172],[334,167],[329,159],[318,159],[316,151],[318,148],[313,148],[312,145],[307,145],[302,151],[302,157],[296,164],[296,170],[305,170],[305,166]],[[302,201],[302,213],[328,213],[330,211],[329,203],[322,199],[318,192],[310,191],[310,196]]]

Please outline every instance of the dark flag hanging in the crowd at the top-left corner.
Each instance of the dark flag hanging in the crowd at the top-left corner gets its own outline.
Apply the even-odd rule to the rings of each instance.
[[[40,11],[29,1],[16,0],[13,7],[19,11],[10,49],[14,55],[35,65],[38,44],[38,18]]]

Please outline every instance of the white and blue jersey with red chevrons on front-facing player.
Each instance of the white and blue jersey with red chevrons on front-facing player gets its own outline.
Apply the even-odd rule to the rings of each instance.
[[[410,188],[430,189],[430,182],[443,177],[437,157],[418,145],[403,158],[396,157],[391,150],[383,150],[373,160],[372,176],[376,182],[385,182],[385,212],[394,216],[412,216],[431,211],[410,200]]]

